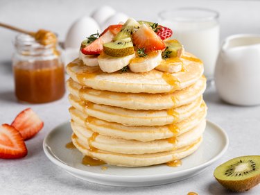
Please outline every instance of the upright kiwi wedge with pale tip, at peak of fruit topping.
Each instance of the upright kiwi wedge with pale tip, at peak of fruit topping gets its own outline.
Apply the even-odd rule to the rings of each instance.
[[[140,24],[133,18],[129,18],[125,24],[123,24],[121,31],[116,34],[114,40],[123,40],[127,37],[131,37],[132,33],[140,27]]]

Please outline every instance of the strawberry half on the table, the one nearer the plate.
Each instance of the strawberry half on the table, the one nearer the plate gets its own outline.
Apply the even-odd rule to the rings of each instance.
[[[11,126],[15,127],[24,137],[24,140],[35,136],[44,126],[43,121],[31,108],[27,108],[19,113]]]

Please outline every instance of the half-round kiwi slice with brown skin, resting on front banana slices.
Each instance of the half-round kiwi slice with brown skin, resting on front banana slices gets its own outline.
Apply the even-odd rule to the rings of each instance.
[[[107,42],[103,44],[103,51],[108,56],[123,57],[135,53],[131,38],[117,40],[115,42]]]

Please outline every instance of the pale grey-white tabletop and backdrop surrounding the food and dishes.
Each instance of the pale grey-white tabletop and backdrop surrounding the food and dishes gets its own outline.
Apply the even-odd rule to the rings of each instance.
[[[131,3],[128,3],[131,2]],[[221,39],[235,33],[260,33],[260,1],[8,1],[0,0],[0,21],[31,30],[52,29],[61,40],[73,20],[107,3],[137,19],[155,21],[157,12],[180,6],[200,6],[220,12]],[[44,10],[48,10],[44,12]],[[0,124],[11,123],[17,113],[31,107],[44,120],[44,128],[26,141],[28,155],[20,160],[0,160],[0,194],[234,194],[213,176],[218,164],[240,155],[260,154],[260,106],[238,107],[223,103],[214,87],[205,93],[207,118],[229,135],[229,149],[200,175],[155,187],[108,187],[87,183],[56,167],[44,155],[42,141],[55,126],[69,119],[67,95],[60,101],[39,105],[18,103],[14,95],[11,62],[16,33],[0,28]],[[259,90],[259,89],[257,89]],[[260,194],[260,186],[243,194]]]

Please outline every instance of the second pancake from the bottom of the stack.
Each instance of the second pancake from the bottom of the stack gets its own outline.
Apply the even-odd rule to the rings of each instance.
[[[150,142],[139,142],[136,140],[116,139],[114,137],[94,134],[92,130],[76,124],[75,121],[71,121],[73,133],[78,137],[78,139],[85,142],[88,149],[122,154],[159,153],[189,146],[202,136],[205,126],[206,121],[203,120],[198,126],[178,137],[173,137],[171,139],[157,139]],[[93,135],[94,139],[92,139]]]

